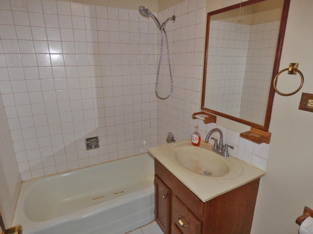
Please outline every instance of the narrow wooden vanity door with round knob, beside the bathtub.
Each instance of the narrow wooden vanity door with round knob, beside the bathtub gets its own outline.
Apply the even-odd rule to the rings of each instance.
[[[169,233],[170,228],[170,199],[171,192],[165,183],[155,176],[155,191],[156,191],[156,222],[162,229],[164,234]]]

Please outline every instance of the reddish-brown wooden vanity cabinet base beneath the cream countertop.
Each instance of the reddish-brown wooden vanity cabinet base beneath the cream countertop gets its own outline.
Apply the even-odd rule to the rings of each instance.
[[[156,222],[164,234],[250,234],[259,181],[202,202],[155,159]]]

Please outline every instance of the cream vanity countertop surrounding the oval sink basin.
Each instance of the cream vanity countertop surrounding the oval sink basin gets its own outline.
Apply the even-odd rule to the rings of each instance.
[[[154,156],[164,167],[166,167],[174,176],[176,176],[187,188],[197,195],[202,202],[213,199],[230,190],[238,188],[252,180],[265,175],[265,172],[238,159],[243,166],[243,172],[240,176],[231,179],[219,179],[195,175],[175,163],[170,157],[171,148],[181,142],[190,142],[184,140],[176,143],[164,144],[149,149],[149,153]],[[205,145],[204,145],[205,144]],[[190,142],[190,145],[191,142]],[[212,148],[209,143],[201,142],[202,147]],[[198,146],[193,146],[198,147]],[[221,156],[222,157],[222,156]],[[232,156],[230,156],[232,157]],[[227,158],[226,158],[227,160]]]

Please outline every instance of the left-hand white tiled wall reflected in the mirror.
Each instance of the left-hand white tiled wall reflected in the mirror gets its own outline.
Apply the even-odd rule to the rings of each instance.
[[[212,20],[205,106],[240,117],[250,25]]]

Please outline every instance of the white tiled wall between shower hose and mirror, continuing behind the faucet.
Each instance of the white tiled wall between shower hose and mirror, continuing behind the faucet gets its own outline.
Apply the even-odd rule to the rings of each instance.
[[[199,132],[204,138],[210,130],[218,127],[224,133],[224,142],[234,146],[234,150],[229,150],[232,156],[239,157],[266,171],[268,144],[258,145],[240,138],[240,133],[224,126],[214,123],[204,124],[202,120],[192,119],[192,114],[200,110],[206,16],[204,7],[205,0],[185,0],[158,14],[161,21],[173,14],[177,17],[174,24],[171,22],[167,24],[171,56],[173,55],[171,62],[174,64],[174,90],[170,98],[157,100],[158,143],[166,143],[168,132],[174,133],[177,140],[188,139],[194,132],[194,127],[199,125]],[[168,68],[164,67],[165,72],[168,72],[166,70]],[[168,82],[168,77],[166,79],[164,83]],[[235,84],[232,83],[230,88],[234,86]],[[160,90],[163,94],[166,94],[165,91],[168,92],[168,84],[162,86]]]

